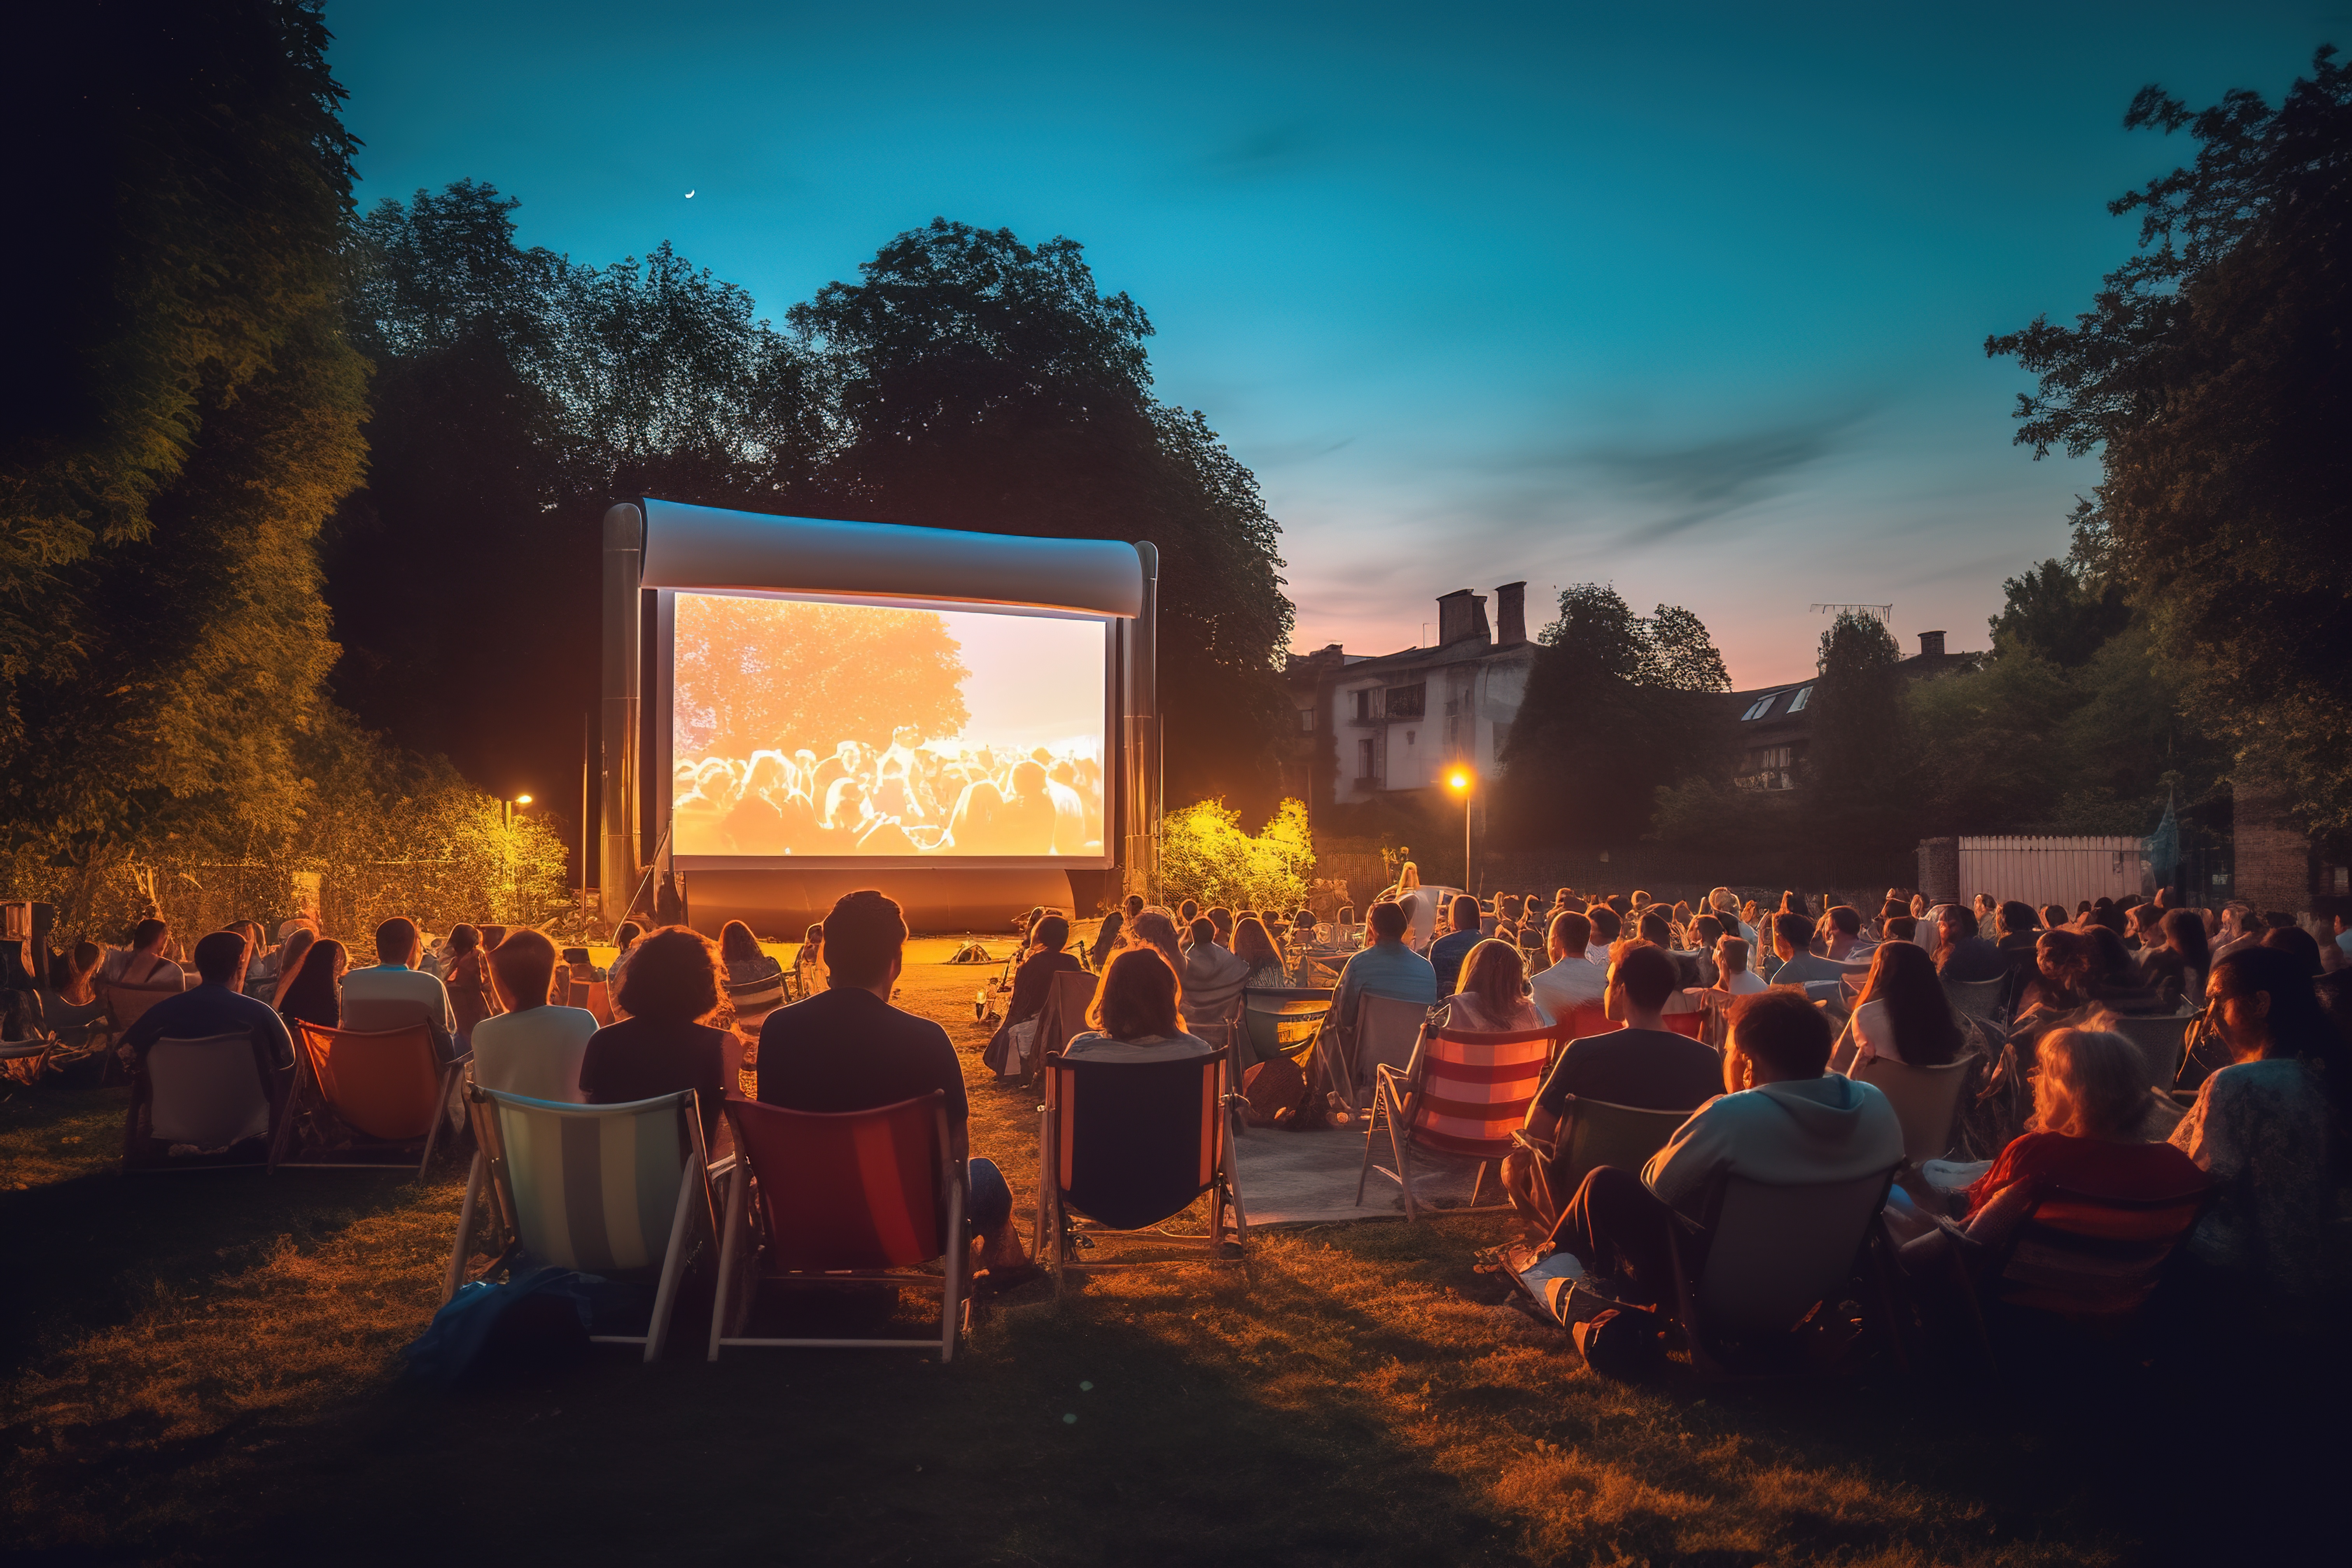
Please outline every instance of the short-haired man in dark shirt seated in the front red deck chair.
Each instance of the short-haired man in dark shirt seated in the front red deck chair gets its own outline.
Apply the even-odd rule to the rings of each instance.
[[[1004,1173],[993,1159],[971,1157],[964,1067],[943,1027],[889,1004],[906,969],[898,905],[873,889],[842,893],[826,914],[823,940],[826,990],[760,1023],[760,1100],[837,1114],[941,1091],[948,1154],[967,1182],[964,1220],[985,1241],[978,1267],[1002,1279],[1025,1265],[1025,1253]]]

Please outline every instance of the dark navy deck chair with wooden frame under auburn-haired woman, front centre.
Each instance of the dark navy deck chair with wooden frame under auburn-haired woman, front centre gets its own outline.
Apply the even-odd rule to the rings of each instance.
[[[1077,1251],[1096,1234],[1157,1227],[1204,1192],[1209,1227],[1200,1241],[1209,1262],[1228,1262],[1228,1211],[1235,1244],[1249,1246],[1228,1119],[1237,1103],[1230,1046],[1167,1063],[1047,1056],[1033,1251],[1054,1269],[1056,1295],[1070,1274],[1155,1267],[1077,1262]]]

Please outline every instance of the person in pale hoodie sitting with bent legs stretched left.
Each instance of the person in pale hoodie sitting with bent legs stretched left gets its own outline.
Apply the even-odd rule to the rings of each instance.
[[[1835,1182],[1903,1159],[1903,1124],[1870,1084],[1828,1072],[1830,1020],[1795,992],[1759,992],[1731,1006],[1724,1091],[1708,1100],[1642,1173],[1595,1166],[1552,1227],[1585,1274],[1625,1274],[1625,1295],[1668,1300],[1670,1246],[1696,1269],[1708,1234],[1698,1220],[1719,1175],[1759,1182]]]

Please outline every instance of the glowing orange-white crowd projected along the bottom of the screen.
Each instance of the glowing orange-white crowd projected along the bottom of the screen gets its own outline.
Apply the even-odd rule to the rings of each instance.
[[[677,853],[1098,856],[1103,764],[1082,750],[840,741],[677,759]]]

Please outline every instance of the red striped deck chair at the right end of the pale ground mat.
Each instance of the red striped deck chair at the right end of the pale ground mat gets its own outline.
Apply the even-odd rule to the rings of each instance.
[[[1552,1039],[1552,1030],[1484,1034],[1423,1027],[1409,1072],[1381,1063],[1371,1098],[1371,1126],[1364,1128],[1364,1168],[1355,1178],[1357,1206],[1364,1204],[1364,1180],[1381,1171],[1404,1187],[1404,1218],[1418,1220],[1421,1208],[1414,1199],[1414,1152],[1418,1150],[1479,1161],[1477,1180],[1470,1182],[1470,1206],[1454,1213],[1482,1213],[1477,1197],[1486,1190],[1486,1168],[1517,1147],[1512,1133],[1526,1121],[1526,1107],[1543,1088]],[[1395,1171],[1371,1164],[1381,1112],[1388,1112],[1388,1147],[1397,1159]],[[1489,1213],[1494,1208],[1498,1206],[1489,1206]]]

